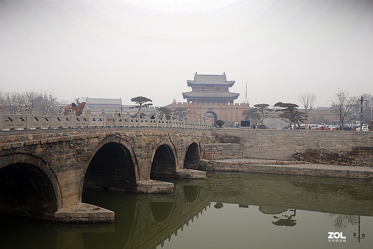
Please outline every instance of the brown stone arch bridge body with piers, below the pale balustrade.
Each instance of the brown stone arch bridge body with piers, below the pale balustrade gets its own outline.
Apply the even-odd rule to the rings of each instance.
[[[172,193],[157,177],[206,178],[198,166],[211,130],[88,128],[2,131],[0,212],[65,222],[113,222],[82,203],[83,187]]]

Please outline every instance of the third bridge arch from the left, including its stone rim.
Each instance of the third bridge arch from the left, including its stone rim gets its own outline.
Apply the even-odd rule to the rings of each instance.
[[[160,141],[154,148],[151,159],[150,178],[174,177],[178,168],[175,145],[169,140]]]

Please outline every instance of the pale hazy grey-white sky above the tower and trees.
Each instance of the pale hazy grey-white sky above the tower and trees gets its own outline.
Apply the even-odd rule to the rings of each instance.
[[[223,74],[250,105],[373,94],[373,1],[0,0],[2,90],[185,102]]]

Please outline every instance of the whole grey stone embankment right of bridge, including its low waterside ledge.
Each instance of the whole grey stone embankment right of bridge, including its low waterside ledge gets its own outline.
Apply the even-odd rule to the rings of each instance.
[[[373,133],[213,130],[198,169],[347,178],[373,177]],[[258,159],[261,158],[261,159]]]

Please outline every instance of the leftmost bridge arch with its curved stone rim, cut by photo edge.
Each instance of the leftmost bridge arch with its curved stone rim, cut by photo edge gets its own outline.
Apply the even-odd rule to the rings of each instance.
[[[60,184],[43,159],[22,153],[0,156],[1,212],[54,220],[60,208]]]

